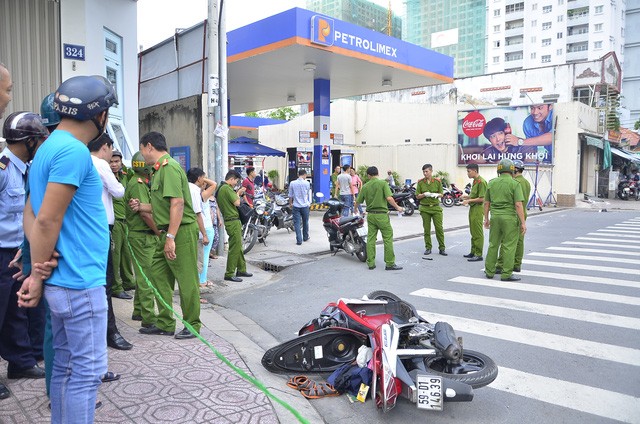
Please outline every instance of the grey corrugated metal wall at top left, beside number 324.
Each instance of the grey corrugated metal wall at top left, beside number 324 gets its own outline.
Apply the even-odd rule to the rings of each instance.
[[[13,79],[5,117],[39,112],[44,96],[60,85],[59,1],[0,0],[0,62]]]

